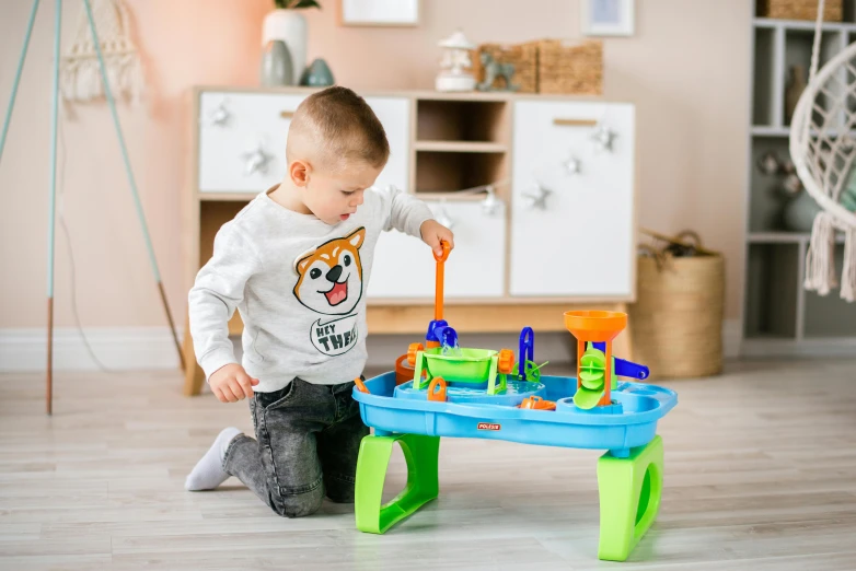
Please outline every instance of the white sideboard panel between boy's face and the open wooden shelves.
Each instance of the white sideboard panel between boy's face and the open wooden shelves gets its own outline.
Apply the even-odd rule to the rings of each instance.
[[[378,116],[386,140],[390,141],[390,160],[375,183],[380,188],[393,185],[407,190],[410,172],[410,100],[406,97],[366,97]]]

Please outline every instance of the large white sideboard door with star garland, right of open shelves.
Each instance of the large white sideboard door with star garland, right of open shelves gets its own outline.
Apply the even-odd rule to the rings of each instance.
[[[598,126],[592,123],[597,121]],[[631,296],[635,119],[629,104],[514,104],[510,294]],[[614,138],[598,149],[598,128]],[[579,172],[568,167],[578,160]],[[548,190],[542,196],[539,185]]]

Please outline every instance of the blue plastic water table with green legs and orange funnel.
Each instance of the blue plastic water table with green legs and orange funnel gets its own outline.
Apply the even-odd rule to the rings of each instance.
[[[565,327],[577,339],[576,377],[542,374],[546,363],[534,362],[529,327],[520,334],[517,359],[508,349],[459,347],[456,331],[442,318],[447,256],[448,248],[435,256],[438,294],[427,347],[412,345],[394,371],[357,380],[354,389],[362,420],[373,429],[362,440],[357,463],[357,528],[383,534],[438,497],[441,436],[604,450],[598,461],[598,557],[626,560],[660,506],[663,445],[657,422],[676,405],[676,394],[636,382],[648,377],[648,369],[612,354],[613,339],[627,325],[624,313],[564,314]],[[383,482],[396,442],[407,464],[407,485],[384,504]]]

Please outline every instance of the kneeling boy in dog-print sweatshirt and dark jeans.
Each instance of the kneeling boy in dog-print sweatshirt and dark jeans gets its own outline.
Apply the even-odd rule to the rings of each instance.
[[[218,232],[188,295],[190,333],[215,396],[250,398],[256,439],[223,430],[187,476],[187,490],[235,476],[288,517],[314,513],[325,496],[354,501],[369,429],[351,391],[367,357],[374,245],[395,228],[438,255],[441,241],[453,246],[452,232],[423,202],[371,188],[389,154],[361,97],[340,86],[317,92],[291,120],[282,183]],[[243,366],[228,337],[235,307]]]

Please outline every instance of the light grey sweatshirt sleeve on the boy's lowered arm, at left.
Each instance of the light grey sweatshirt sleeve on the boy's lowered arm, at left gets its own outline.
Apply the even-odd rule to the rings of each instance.
[[[243,300],[256,259],[252,245],[227,223],[215,237],[211,259],[196,276],[187,296],[188,314],[194,351],[206,378],[238,362],[229,339],[229,319]]]

